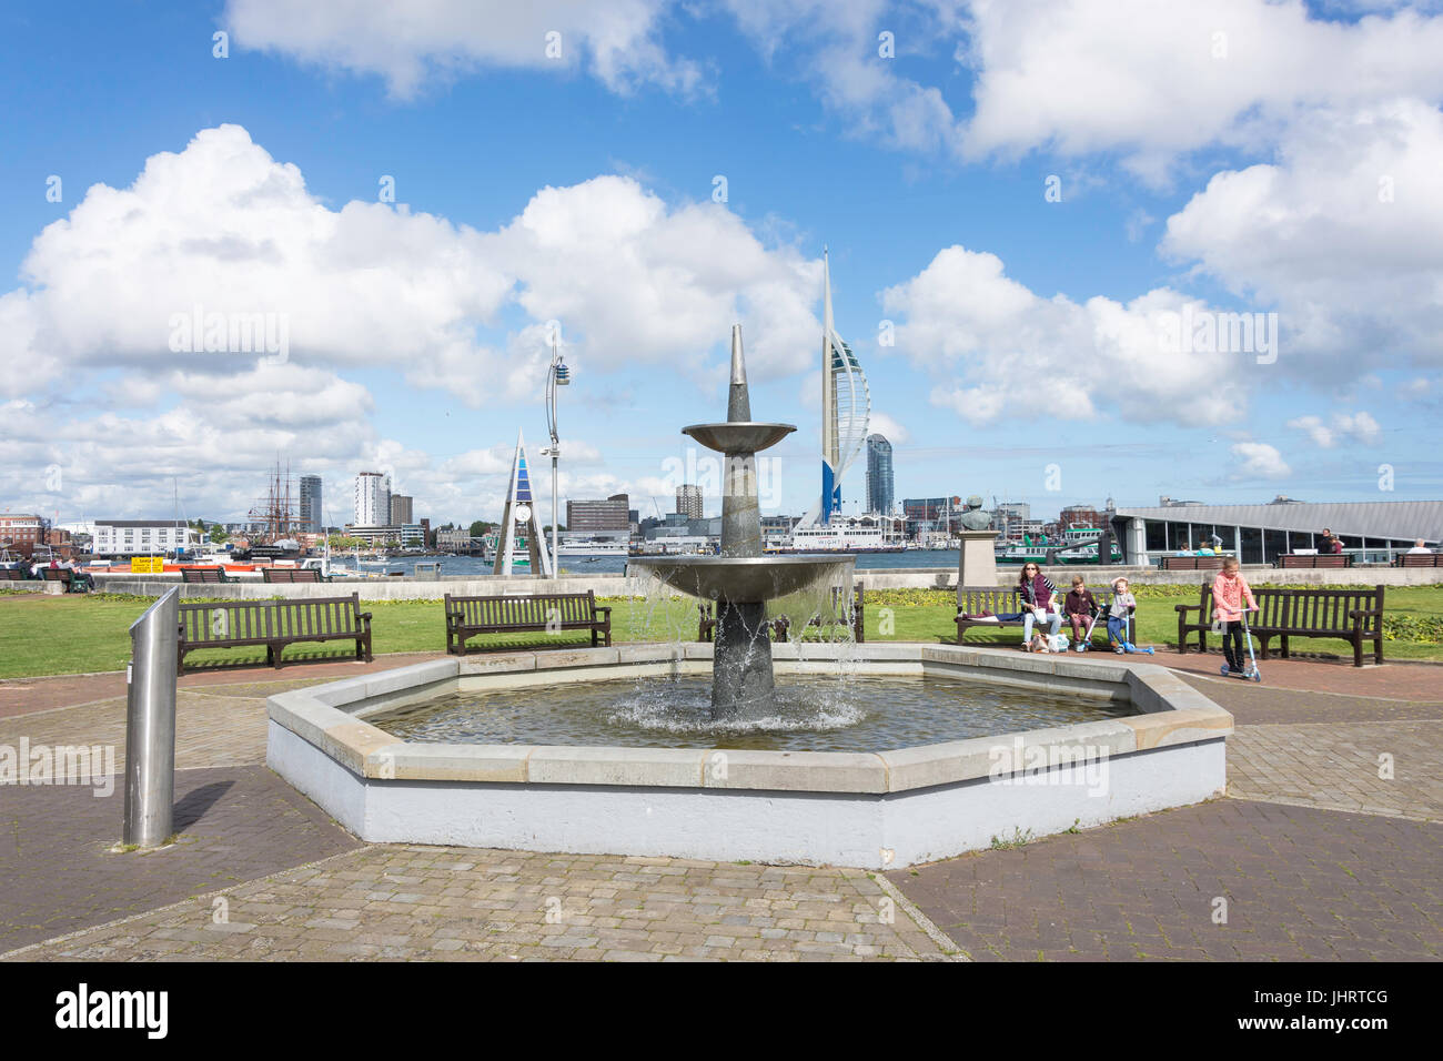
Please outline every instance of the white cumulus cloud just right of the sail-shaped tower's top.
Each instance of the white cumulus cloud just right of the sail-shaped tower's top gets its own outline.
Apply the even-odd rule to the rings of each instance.
[[[932,403],[975,427],[1009,417],[1219,424],[1245,413],[1250,357],[1183,352],[1169,323],[1206,306],[1170,289],[1128,303],[1042,297],[994,254],[948,247],[889,287],[896,349],[941,378]]]

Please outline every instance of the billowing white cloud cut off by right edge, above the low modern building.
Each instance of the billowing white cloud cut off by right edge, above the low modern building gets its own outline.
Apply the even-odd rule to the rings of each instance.
[[[1443,362],[1443,114],[1413,100],[1319,113],[1278,154],[1214,176],[1167,219],[1162,253],[1276,306],[1284,371]]]

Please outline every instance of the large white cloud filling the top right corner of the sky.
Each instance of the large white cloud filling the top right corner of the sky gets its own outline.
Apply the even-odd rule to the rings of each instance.
[[[1124,152],[1162,180],[1179,154],[1263,147],[1315,107],[1443,95],[1443,17],[1411,10],[1348,23],[1300,0],[973,0],[965,19],[971,157]]]

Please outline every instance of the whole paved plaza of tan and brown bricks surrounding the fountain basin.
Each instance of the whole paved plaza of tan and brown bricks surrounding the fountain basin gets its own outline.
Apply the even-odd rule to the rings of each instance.
[[[374,673],[180,680],[176,842],[121,778],[0,788],[0,957],[1407,960],[1443,950],[1443,668],[1159,654],[1234,713],[1228,797],[886,875],[364,844],[264,767],[266,702]],[[113,745],[124,677],[0,683],[0,745]],[[108,788],[108,795],[95,791]]]

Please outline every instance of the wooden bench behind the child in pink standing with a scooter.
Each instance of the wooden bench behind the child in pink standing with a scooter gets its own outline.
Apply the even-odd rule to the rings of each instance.
[[[1278,638],[1280,654],[1289,657],[1289,638],[1339,638],[1354,648],[1354,667],[1362,667],[1362,644],[1372,641],[1372,660],[1382,663],[1382,586],[1358,589],[1254,589],[1258,611],[1248,616],[1248,629],[1267,658],[1268,642]],[[1198,651],[1208,651],[1212,626],[1212,586],[1202,586],[1195,605],[1176,605],[1177,652],[1188,651],[1188,634],[1198,635]],[[1190,618],[1198,612],[1198,618]]]

